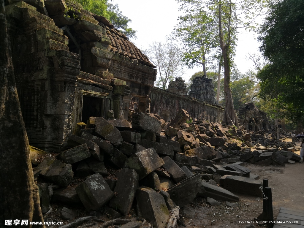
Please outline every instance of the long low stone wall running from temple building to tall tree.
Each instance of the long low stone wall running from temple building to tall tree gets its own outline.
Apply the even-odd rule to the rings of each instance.
[[[172,119],[180,109],[185,109],[193,119],[204,119],[210,122],[220,122],[223,119],[223,108],[201,102],[190,96],[151,87],[150,98],[151,113],[158,114],[166,121]]]

